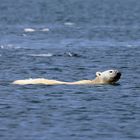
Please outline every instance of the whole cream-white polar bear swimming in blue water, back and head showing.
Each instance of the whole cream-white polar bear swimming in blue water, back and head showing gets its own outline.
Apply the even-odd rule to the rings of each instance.
[[[84,84],[114,84],[121,77],[121,72],[118,70],[107,70],[104,72],[96,72],[96,78],[93,80],[80,80],[76,82],[63,82],[58,80],[49,80],[44,78],[16,80],[13,84],[44,84],[44,85],[84,85]]]

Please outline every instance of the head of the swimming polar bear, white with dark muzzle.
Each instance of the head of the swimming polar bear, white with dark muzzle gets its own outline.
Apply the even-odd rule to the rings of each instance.
[[[121,73],[118,70],[107,70],[104,72],[96,72],[96,76],[102,84],[113,84],[120,79]]]

